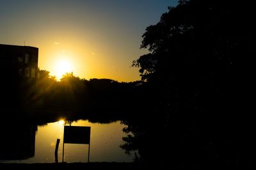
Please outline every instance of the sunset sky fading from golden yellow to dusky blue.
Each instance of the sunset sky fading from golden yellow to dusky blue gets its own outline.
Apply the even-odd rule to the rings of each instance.
[[[147,26],[178,0],[0,0],[0,44],[38,47],[38,67],[60,79],[140,80],[132,61]]]

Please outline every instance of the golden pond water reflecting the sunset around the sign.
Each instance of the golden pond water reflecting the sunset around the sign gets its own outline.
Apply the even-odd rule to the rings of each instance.
[[[19,153],[20,148],[29,148],[30,156],[24,154],[24,158],[9,157],[4,160],[3,155],[0,157],[1,162],[8,163],[52,163],[56,161],[54,156],[56,140],[60,139],[60,145],[58,148],[58,162],[62,162],[62,150],[63,150],[63,128],[65,125],[64,120],[56,121],[54,123],[47,123],[47,125],[37,127],[35,133],[29,135],[30,145],[24,138],[28,138],[28,134],[33,131],[31,128],[22,130],[26,135],[20,136],[19,141],[14,143],[15,152]],[[66,123],[67,125],[67,123]],[[120,121],[116,121],[108,124],[90,123],[88,120],[79,120],[72,122],[72,126],[86,126],[91,127],[91,139],[90,139],[90,162],[132,162],[134,155],[127,155],[125,151],[120,148],[120,144],[123,144],[122,137],[126,134],[122,132],[125,125],[122,125]],[[18,130],[18,129],[17,129]],[[9,133],[9,135],[12,133]],[[13,134],[14,135],[14,134]],[[33,135],[35,138],[33,139]],[[11,136],[11,135],[10,135]],[[24,141],[25,140],[25,141]],[[20,144],[22,143],[22,144]],[[25,145],[23,144],[25,143]],[[13,144],[12,144],[13,145]],[[26,146],[26,147],[24,147]],[[12,147],[12,146],[9,146]],[[1,148],[4,148],[2,146]],[[66,144],[65,143],[65,162],[87,162],[88,161],[88,144]],[[18,150],[18,151],[17,151]],[[33,154],[34,151],[34,154]],[[13,153],[16,154],[17,153]],[[5,155],[8,155],[4,153]],[[13,156],[13,155],[12,155]],[[13,159],[14,158],[14,159]]]

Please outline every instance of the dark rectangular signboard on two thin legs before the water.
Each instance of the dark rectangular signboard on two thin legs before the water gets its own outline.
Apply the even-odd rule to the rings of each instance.
[[[64,162],[64,144],[89,144],[88,162],[90,157],[91,127],[64,126],[62,162]]]

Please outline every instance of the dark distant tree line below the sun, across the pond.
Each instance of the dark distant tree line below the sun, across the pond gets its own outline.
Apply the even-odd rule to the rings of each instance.
[[[80,79],[66,73],[56,81],[46,70],[39,70],[36,81],[23,81],[19,91],[25,112],[129,112],[136,105],[138,82],[118,82],[111,79]],[[138,91],[138,90],[137,90]]]

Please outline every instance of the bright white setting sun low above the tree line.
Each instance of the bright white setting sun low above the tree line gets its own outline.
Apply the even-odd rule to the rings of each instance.
[[[72,64],[70,61],[63,59],[61,61],[56,62],[56,66],[55,66],[55,70],[56,70],[56,78],[58,80],[61,79],[62,75],[65,75],[65,73],[70,73],[72,72]]]

